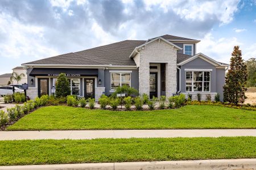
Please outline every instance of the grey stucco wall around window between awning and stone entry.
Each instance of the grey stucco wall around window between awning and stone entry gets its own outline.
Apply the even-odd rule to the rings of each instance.
[[[113,69],[111,69],[113,70]],[[130,70],[122,70],[122,71],[132,71],[131,72],[131,87],[139,90],[139,69],[130,69]],[[106,95],[111,95],[110,92],[110,72],[109,70],[105,70],[105,93]]]

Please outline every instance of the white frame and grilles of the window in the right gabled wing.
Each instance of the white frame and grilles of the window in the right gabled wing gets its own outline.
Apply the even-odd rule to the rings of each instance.
[[[200,82],[202,82],[202,91],[194,91],[194,72],[203,72],[203,80],[202,81],[200,81]],[[187,72],[192,72],[192,91],[187,91],[187,82],[191,82],[191,81],[187,81],[186,79],[187,79]],[[210,80],[209,81],[205,81],[204,80],[204,73],[205,72],[209,72],[210,73],[210,80],[211,80],[211,71],[209,71],[209,70],[207,70],[207,71],[202,71],[202,70],[197,70],[197,71],[185,71],[185,91],[186,92],[197,92],[197,93],[201,93],[201,92],[210,92]],[[209,82],[209,91],[204,91],[204,82]]]

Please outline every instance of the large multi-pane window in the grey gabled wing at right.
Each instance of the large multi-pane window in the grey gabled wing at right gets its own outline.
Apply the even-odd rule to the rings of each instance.
[[[186,71],[187,92],[209,92],[210,71]]]

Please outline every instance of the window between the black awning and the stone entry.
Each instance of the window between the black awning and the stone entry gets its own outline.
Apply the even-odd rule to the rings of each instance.
[[[111,75],[111,90],[119,86],[131,87],[131,73],[110,73]]]

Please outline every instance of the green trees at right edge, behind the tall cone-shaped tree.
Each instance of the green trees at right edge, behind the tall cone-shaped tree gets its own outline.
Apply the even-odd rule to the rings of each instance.
[[[247,66],[247,87],[256,87],[256,58],[250,58],[245,62]]]

